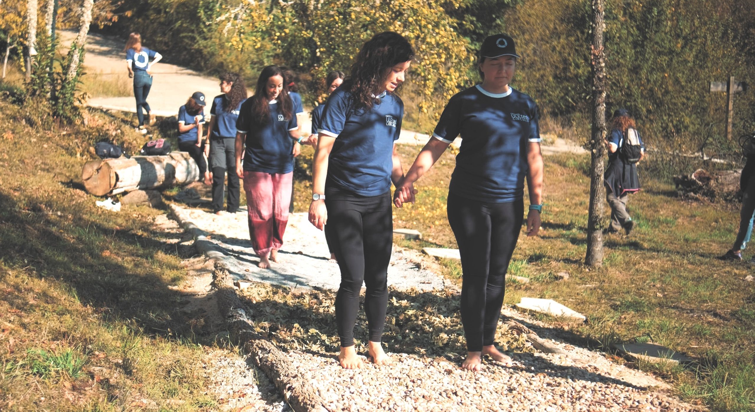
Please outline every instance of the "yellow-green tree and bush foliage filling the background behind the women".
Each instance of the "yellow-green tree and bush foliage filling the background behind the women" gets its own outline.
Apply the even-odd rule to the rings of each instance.
[[[662,150],[738,152],[724,137],[726,94],[709,87],[729,76],[752,83],[753,2],[606,3],[609,113],[627,107],[646,142]],[[532,95],[543,113],[580,130],[589,127],[590,0],[310,0],[254,6],[127,0],[122,8],[133,13],[106,28],[110,32],[137,30],[146,45],[176,63],[210,73],[240,71],[250,82],[264,65],[285,64],[299,71],[310,104],[322,100],[328,70],[348,72],[362,42],[384,29],[404,33],[418,62],[402,95],[411,103],[408,116],[423,132],[433,127],[451,94],[476,82],[473,57],[482,39],[509,33],[523,56],[514,87]],[[735,96],[735,137],[755,128],[753,99],[752,91]]]

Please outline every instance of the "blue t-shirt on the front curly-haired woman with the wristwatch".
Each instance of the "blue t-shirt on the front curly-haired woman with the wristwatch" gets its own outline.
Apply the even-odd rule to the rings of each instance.
[[[328,158],[328,184],[361,196],[390,190],[393,142],[401,132],[404,104],[383,92],[371,110],[355,110],[350,92],[337,88],[317,132],[336,138]]]

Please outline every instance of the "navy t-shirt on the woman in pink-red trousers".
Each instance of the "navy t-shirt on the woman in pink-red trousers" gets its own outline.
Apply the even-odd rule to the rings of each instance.
[[[260,124],[251,116],[252,99],[247,99],[239,110],[236,132],[246,134],[244,170],[265,173],[294,171],[294,139],[288,132],[298,129],[296,116],[286,120],[278,101],[270,103],[270,119]]]

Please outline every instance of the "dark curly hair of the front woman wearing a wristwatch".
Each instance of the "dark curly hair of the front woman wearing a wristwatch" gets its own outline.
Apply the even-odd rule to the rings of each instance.
[[[374,94],[381,93],[381,82],[393,66],[414,58],[408,40],[399,33],[376,34],[356,55],[351,76],[341,87],[350,91],[354,108],[370,110],[375,103]]]

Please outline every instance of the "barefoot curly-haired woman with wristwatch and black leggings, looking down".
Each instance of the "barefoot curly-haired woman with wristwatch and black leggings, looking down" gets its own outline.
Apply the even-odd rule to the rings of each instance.
[[[398,33],[375,35],[362,46],[351,77],[325,103],[313,167],[310,221],[331,225],[341,268],[335,318],[341,366],[362,366],[354,348],[359,290],[367,287],[368,352],[375,364],[390,361],[381,347],[388,304],[387,269],[393,246],[390,182],[404,174],[393,143],[399,138],[404,104],[394,91],[414,58]]]

